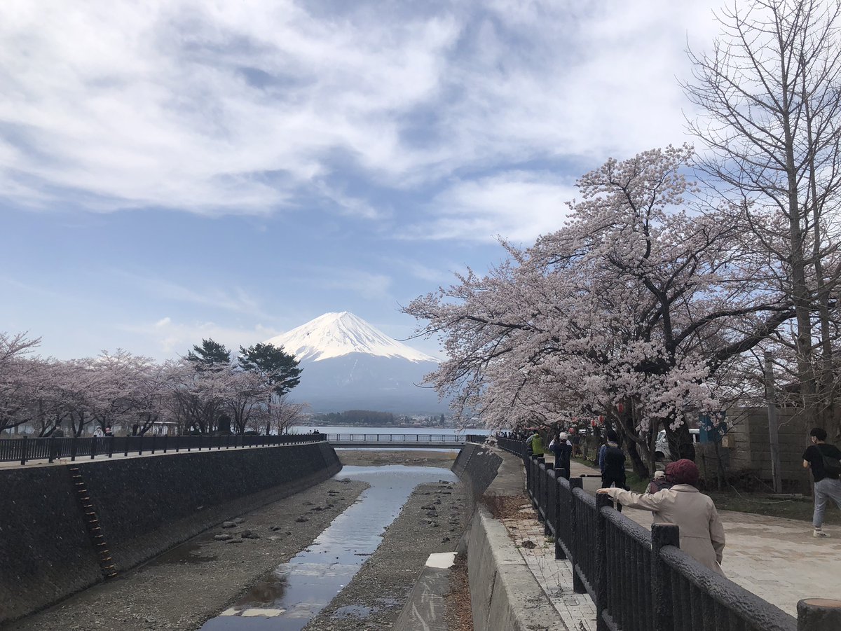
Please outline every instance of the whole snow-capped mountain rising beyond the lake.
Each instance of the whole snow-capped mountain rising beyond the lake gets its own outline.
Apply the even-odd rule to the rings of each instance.
[[[325,313],[288,333],[267,339],[295,355],[303,370],[289,396],[316,413],[351,409],[393,413],[442,413],[424,376],[438,360],[390,338],[353,313]]]

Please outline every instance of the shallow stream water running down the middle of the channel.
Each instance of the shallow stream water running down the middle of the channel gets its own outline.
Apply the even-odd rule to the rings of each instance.
[[[278,568],[201,631],[300,631],[327,606],[383,540],[415,486],[455,482],[447,469],[430,466],[346,466],[338,476],[370,488],[341,513],[308,548]],[[383,607],[394,606],[383,599]],[[372,607],[341,607],[337,618],[364,620]]]

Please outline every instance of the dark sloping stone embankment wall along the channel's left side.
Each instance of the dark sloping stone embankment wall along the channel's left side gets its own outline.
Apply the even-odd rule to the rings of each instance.
[[[117,571],[341,471],[326,443],[75,465]],[[0,624],[102,580],[68,467],[0,471]]]

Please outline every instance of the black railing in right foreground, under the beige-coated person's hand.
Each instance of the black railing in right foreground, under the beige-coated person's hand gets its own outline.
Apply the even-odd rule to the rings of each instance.
[[[503,440],[497,439],[503,449],[520,451]],[[796,618],[698,563],[680,550],[677,526],[655,523],[649,531],[617,512],[610,497],[585,493],[581,478],[568,481],[535,457],[524,464],[555,558],[570,561],[574,592],[595,602],[598,631],[829,628],[804,622],[806,601],[798,604],[804,618],[798,627]]]

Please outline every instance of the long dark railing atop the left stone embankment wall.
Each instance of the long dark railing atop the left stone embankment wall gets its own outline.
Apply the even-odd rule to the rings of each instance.
[[[143,455],[181,451],[228,450],[269,447],[278,444],[316,443],[325,434],[281,434],[279,436],[106,436],[102,438],[0,439],[0,462]]]

